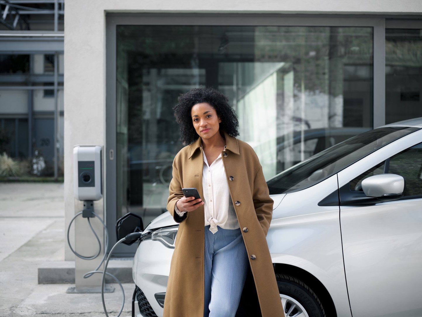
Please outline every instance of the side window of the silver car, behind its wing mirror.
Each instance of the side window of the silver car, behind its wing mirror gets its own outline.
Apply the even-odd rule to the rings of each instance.
[[[350,182],[352,191],[362,191],[362,180],[373,175],[397,174],[406,180],[403,197],[422,195],[422,143],[408,148],[382,162]]]

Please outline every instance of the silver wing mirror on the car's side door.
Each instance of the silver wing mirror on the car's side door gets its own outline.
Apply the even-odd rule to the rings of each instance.
[[[367,197],[376,197],[381,202],[400,199],[405,180],[396,174],[379,174],[362,180],[362,190]]]

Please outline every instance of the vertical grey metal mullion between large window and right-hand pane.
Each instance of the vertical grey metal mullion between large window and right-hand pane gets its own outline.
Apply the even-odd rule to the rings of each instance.
[[[385,124],[385,19],[373,27],[373,128]]]

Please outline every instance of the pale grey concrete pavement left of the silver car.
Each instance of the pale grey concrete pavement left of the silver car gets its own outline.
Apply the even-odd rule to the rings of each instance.
[[[0,183],[0,316],[105,316],[101,294],[68,294],[74,284],[38,284],[38,268],[65,258],[62,183]],[[108,315],[122,305],[118,284],[105,294]],[[133,283],[122,317],[131,316]]]

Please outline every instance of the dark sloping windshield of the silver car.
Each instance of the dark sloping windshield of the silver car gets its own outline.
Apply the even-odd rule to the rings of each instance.
[[[285,194],[311,187],[368,154],[419,130],[416,127],[384,127],[338,143],[268,180],[270,194]]]

